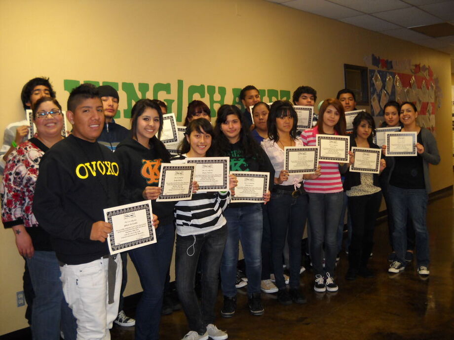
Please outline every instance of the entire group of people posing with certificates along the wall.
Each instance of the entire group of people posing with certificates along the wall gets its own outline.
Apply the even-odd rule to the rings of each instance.
[[[382,149],[380,174],[350,172],[355,155],[349,151],[348,163],[320,161],[315,173],[302,175],[285,170],[284,148],[316,145],[318,134],[345,136],[345,112],[356,105],[351,90],[324,100],[314,126],[305,131],[297,130],[293,105],[314,106],[316,91],[309,86],[296,89],[293,103],[271,105],[261,101],[256,87],[246,86],[240,93],[245,111],[224,104],[214,126],[210,108],[190,102],[178,155],[171,155],[159,140],[167,111],[159,100],[137,101],[126,129],[113,119],[117,91],[109,85],[82,84],[68,98],[66,117],[72,131],[64,138],[62,107],[47,78],[30,80],[21,98],[24,108],[32,109],[36,134],[27,139],[30,127],[24,122],[5,131],[1,217],[26,260],[24,291],[31,292],[28,318],[34,339],[59,339],[61,332],[68,340],[110,339],[113,322],[135,323],[137,340],[158,339],[174,244],[176,290],[189,324],[183,339],[227,339],[215,325],[215,305],[220,276],[221,315],[235,313],[239,241],[251,314],[264,314],[262,291],[275,292],[283,305],[304,304],[300,274],[305,226],[313,289],[336,292],[347,206],[345,278],[374,277],[367,265],[382,196],[392,248],[388,271],[403,271],[416,243],[417,271],[429,275],[428,165],[438,164],[440,156],[435,138],[417,125],[411,102],[388,102],[383,126],[416,132],[417,156],[385,157],[386,146],[373,142],[374,118],[359,112],[350,146]],[[231,202],[238,184],[232,174],[228,191],[205,192],[194,181],[191,200],[157,202],[160,165],[191,157],[229,157],[231,171],[268,172],[264,203]],[[104,221],[103,209],[144,200],[151,200],[157,242],[128,251],[143,289],[134,320],[122,306],[127,257],[109,254],[106,239],[112,225]],[[289,276],[283,269],[286,247]],[[196,279],[200,294],[194,288]]]

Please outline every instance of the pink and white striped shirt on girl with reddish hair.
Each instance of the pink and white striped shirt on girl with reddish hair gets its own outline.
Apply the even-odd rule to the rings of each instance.
[[[315,146],[318,127],[303,131],[301,138],[304,146]],[[336,132],[336,135],[339,135]],[[330,194],[343,191],[340,180],[339,163],[320,161],[321,175],[317,179],[304,180],[304,190],[308,193]]]

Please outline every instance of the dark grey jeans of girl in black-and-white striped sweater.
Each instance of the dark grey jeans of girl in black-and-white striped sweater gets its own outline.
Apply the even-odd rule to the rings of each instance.
[[[176,285],[178,297],[189,323],[189,330],[199,334],[206,332],[206,326],[214,324],[214,311],[218,295],[219,267],[227,241],[227,225],[200,235],[177,235],[176,244]],[[202,297],[199,304],[195,294],[195,272],[201,259]]]

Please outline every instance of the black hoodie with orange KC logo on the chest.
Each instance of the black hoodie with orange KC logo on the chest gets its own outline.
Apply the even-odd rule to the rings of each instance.
[[[161,143],[155,140],[156,143]],[[162,145],[161,152],[167,152]],[[123,140],[115,150],[120,169],[123,170],[124,190],[122,201],[124,204],[144,201],[142,193],[147,186],[157,187],[159,184],[159,174],[164,155],[160,155],[150,143],[150,149],[140,144],[133,138]],[[165,155],[169,162],[170,154]],[[151,200],[153,214],[159,219],[159,224],[172,224],[174,220],[173,210],[177,202],[156,202]]]

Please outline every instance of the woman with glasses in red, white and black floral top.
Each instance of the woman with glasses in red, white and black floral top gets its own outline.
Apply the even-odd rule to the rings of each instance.
[[[1,219],[16,237],[19,254],[26,258],[35,299],[32,312],[32,335],[36,340],[76,339],[76,322],[66,303],[60,265],[50,244],[50,237],[38,224],[32,211],[39,161],[44,153],[62,140],[63,115],[55,98],[42,97],[33,107],[36,135],[13,145],[3,175]]]

